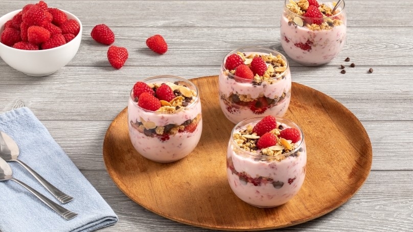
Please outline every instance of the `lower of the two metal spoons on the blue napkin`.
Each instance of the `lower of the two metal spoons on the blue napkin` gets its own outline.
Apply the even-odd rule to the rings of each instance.
[[[66,220],[71,220],[72,218],[76,217],[78,214],[73,213],[72,211],[67,210],[66,208],[56,204],[49,198],[45,197],[43,194],[37,192],[33,188],[31,188],[29,185],[27,185],[24,182],[21,182],[18,179],[15,179],[12,177],[13,172],[11,171],[11,167],[7,162],[0,158],[0,181],[3,180],[13,180],[14,182],[20,184],[22,187],[25,187],[27,190],[29,190],[31,193],[33,193],[37,198],[39,198],[41,201],[43,201],[45,204],[47,204],[49,207],[52,208],[52,210],[56,211],[60,216],[62,216]]]

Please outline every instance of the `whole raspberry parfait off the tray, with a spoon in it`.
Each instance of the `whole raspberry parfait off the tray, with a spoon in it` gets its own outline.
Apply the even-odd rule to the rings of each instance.
[[[330,62],[346,39],[347,16],[342,1],[285,0],[281,16],[281,45],[291,59],[305,65]]]

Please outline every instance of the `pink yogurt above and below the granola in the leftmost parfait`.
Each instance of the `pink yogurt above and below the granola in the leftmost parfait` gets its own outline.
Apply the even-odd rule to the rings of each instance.
[[[154,122],[156,126],[182,125],[198,115],[200,119],[193,132],[178,132],[169,135],[167,140],[162,140],[159,136],[147,136],[131,125],[131,122],[139,123],[142,119]],[[130,141],[141,155],[157,162],[176,161],[190,154],[199,142],[202,133],[201,102],[198,97],[195,102],[174,113],[155,113],[142,109],[129,99],[128,126]]]

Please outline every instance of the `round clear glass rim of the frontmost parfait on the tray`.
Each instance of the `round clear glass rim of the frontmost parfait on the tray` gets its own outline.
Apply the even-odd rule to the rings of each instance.
[[[286,121],[288,124],[292,125],[293,127],[297,128],[297,129],[300,131],[301,141],[300,141],[300,144],[299,144],[294,150],[292,150],[292,151],[290,151],[290,152],[287,152],[287,153],[285,153],[285,154],[268,156],[268,155],[259,155],[259,154],[257,154],[257,153],[253,153],[253,152],[250,152],[250,151],[245,151],[244,149],[241,149],[240,147],[238,147],[238,144],[235,143],[235,141],[234,141],[234,132],[235,132],[235,129],[236,129],[236,128],[241,128],[240,125],[243,124],[243,123],[245,123],[246,121],[250,121],[250,120],[251,120],[251,122],[247,123],[247,124],[250,124],[250,123],[253,123],[253,122],[257,122],[257,121],[259,121],[259,120],[261,120],[261,119],[263,119],[263,118],[265,118],[265,117],[264,117],[264,116],[258,116],[258,117],[248,118],[248,119],[242,120],[241,122],[237,123],[237,124],[234,126],[234,128],[232,129],[232,131],[231,131],[231,138],[230,138],[230,140],[231,140],[232,145],[233,145],[234,147],[236,147],[237,149],[239,149],[242,153],[244,153],[244,154],[246,154],[246,155],[255,156],[255,157],[258,157],[258,158],[265,158],[265,159],[271,159],[271,158],[276,158],[276,157],[289,156],[289,155],[291,155],[291,154],[299,151],[299,150],[303,147],[303,144],[304,144],[304,133],[303,133],[303,130],[302,130],[297,124],[295,124],[294,122],[292,122],[291,120],[288,120],[288,119],[285,119],[285,118],[279,118],[279,117],[274,117],[274,118],[276,118],[276,121],[277,121],[277,122],[279,122],[278,120]],[[255,119],[255,120],[252,121],[253,119]],[[247,125],[247,124],[245,124],[245,125]],[[289,126],[290,126],[290,125],[289,125]],[[238,154],[237,154],[237,155],[238,155]]]

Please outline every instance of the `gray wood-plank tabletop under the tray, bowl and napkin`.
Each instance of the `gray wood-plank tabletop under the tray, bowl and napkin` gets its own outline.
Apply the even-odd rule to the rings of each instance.
[[[30,1],[29,1],[30,2]],[[28,1],[2,1],[0,15]],[[103,138],[127,106],[133,84],[171,74],[185,78],[217,75],[222,58],[241,47],[282,51],[283,1],[47,1],[77,15],[83,24],[79,52],[65,67],[41,78],[26,76],[0,59],[0,111],[29,107],[57,143],[119,216],[101,231],[208,231],[160,217],[125,196],[105,170]],[[346,0],[345,47],[330,63],[306,67],[290,60],[292,79],[324,92],[362,122],[373,147],[369,178],[337,210],[281,230],[413,230],[413,12],[405,1]],[[90,37],[108,25],[115,45],[129,59],[120,70],[106,58],[107,46]],[[147,49],[162,34],[169,50]],[[345,58],[350,57],[350,62]],[[351,62],[355,67],[348,67]],[[340,73],[340,64],[347,73]],[[374,73],[368,73],[369,68]]]

